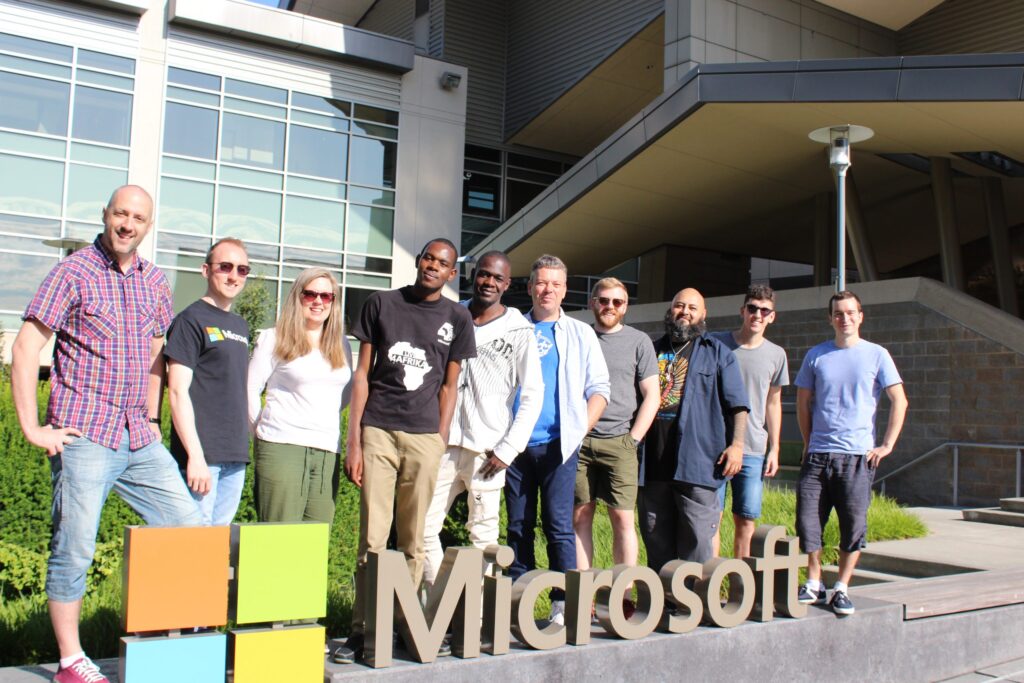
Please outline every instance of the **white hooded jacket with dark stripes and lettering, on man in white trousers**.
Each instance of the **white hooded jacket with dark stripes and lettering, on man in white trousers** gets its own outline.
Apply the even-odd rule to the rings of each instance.
[[[469,301],[462,305],[468,307]],[[462,361],[449,445],[476,453],[494,451],[510,465],[526,450],[544,402],[534,326],[509,307],[501,317],[474,330],[476,357]],[[519,387],[519,411],[513,416]]]

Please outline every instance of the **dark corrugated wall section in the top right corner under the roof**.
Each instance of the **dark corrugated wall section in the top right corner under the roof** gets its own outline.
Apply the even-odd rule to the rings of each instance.
[[[896,34],[900,54],[1024,51],[1024,2],[946,0]]]

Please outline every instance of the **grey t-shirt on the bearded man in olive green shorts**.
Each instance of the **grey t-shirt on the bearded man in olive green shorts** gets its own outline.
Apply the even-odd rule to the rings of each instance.
[[[598,332],[597,340],[608,364],[611,400],[590,433],[604,438],[622,436],[633,426],[640,404],[640,380],[657,376],[654,344],[650,337],[626,325],[618,332]]]

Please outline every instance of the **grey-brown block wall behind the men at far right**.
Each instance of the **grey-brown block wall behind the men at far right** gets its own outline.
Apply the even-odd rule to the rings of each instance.
[[[710,330],[729,330],[738,323],[738,314],[708,318]],[[654,336],[664,329],[662,323],[636,327]],[[1024,413],[1018,402],[1024,396],[1024,355],[913,301],[865,305],[860,332],[892,354],[910,401],[903,432],[880,476],[945,441],[1024,443]],[[783,308],[767,336],[786,350],[793,381],[807,350],[833,332],[823,307]],[[795,402],[796,389],[783,390],[782,400]],[[880,438],[888,419],[889,402],[883,397]],[[785,425],[783,439],[799,433],[794,428]],[[951,450],[933,456],[888,480],[886,493],[909,504],[948,505],[951,461]],[[998,498],[1013,496],[1015,467],[1014,451],[959,449],[959,504],[994,505]]]

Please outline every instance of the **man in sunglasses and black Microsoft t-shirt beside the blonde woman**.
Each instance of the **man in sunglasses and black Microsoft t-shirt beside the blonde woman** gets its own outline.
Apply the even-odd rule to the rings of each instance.
[[[220,526],[234,519],[249,462],[249,325],[231,312],[249,275],[245,245],[234,238],[218,241],[202,273],[206,294],[174,318],[164,357],[171,455],[203,523]]]

